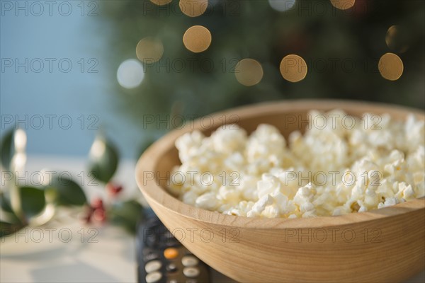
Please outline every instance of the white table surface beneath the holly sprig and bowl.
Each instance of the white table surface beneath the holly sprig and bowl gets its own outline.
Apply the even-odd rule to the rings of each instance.
[[[125,187],[123,197],[137,194],[134,166],[135,163],[126,161],[118,168],[115,180]],[[84,160],[28,157],[26,170],[40,171],[42,168],[78,174],[84,171]],[[89,195],[103,193],[91,187]],[[117,227],[83,224],[75,219],[76,214],[64,210],[38,230],[28,228],[21,231],[21,236],[3,238],[0,241],[0,282],[136,282],[134,237]],[[69,238],[69,235],[72,236]],[[213,276],[216,282],[223,282],[220,275]],[[407,282],[425,282],[425,271]]]

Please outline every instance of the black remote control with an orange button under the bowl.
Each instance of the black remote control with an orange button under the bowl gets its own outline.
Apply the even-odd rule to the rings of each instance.
[[[210,282],[208,265],[174,238],[152,212],[137,229],[137,281],[147,283]]]

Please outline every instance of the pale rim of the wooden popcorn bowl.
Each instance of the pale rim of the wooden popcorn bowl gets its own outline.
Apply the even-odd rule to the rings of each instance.
[[[314,108],[308,108],[307,105],[314,105]],[[421,120],[425,120],[425,111],[414,108],[406,108],[399,105],[390,105],[385,103],[370,103],[365,101],[353,100],[280,100],[266,103],[258,103],[254,105],[247,105],[238,108],[230,108],[222,112],[216,112],[209,115],[213,118],[212,129],[215,129],[217,124],[220,124],[220,117],[222,115],[238,115],[240,119],[252,117],[255,115],[279,113],[283,110],[331,110],[340,108],[343,110],[356,108],[362,112],[376,112],[377,114],[393,112],[398,115],[406,115],[412,113]],[[200,118],[202,119],[202,117]],[[198,120],[200,120],[198,119]],[[191,123],[192,124],[192,123]],[[155,141],[152,146],[140,156],[135,168],[135,178],[138,187],[145,196],[147,202],[155,204],[157,209],[165,209],[174,214],[179,214],[189,219],[202,221],[206,224],[217,224],[220,226],[232,226],[240,228],[254,228],[254,229],[289,229],[289,228],[322,228],[331,226],[341,226],[356,224],[361,221],[373,221],[376,219],[383,219],[390,216],[398,216],[409,212],[416,212],[419,209],[424,209],[425,212],[425,197],[416,200],[409,200],[396,204],[392,207],[385,207],[382,209],[373,209],[368,212],[351,213],[341,216],[317,216],[312,218],[249,218],[245,216],[234,216],[228,214],[221,214],[220,212],[212,212],[198,207],[193,207],[185,204],[166,192],[166,189],[159,185],[157,180],[146,183],[143,178],[143,172],[155,172],[157,161],[161,158],[162,154],[167,150],[174,147],[175,140],[186,132],[192,132],[195,129],[202,129],[200,123],[193,123],[193,125],[186,125],[181,129],[174,129],[168,134],[164,135],[158,141]],[[156,178],[155,178],[156,179]],[[151,205],[152,206],[152,205]]]

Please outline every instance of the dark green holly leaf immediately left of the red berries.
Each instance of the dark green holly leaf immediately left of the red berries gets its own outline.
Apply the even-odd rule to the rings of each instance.
[[[84,190],[67,175],[53,175],[45,190],[47,200],[58,205],[81,206],[87,203]]]

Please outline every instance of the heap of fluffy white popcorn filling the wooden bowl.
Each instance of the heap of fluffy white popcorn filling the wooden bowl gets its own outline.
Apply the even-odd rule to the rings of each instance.
[[[425,197],[424,121],[341,110],[312,111],[308,118],[305,134],[292,132],[288,142],[265,124],[249,136],[237,125],[210,137],[184,134],[176,140],[182,164],[173,168],[170,192],[223,214],[288,219]]]

